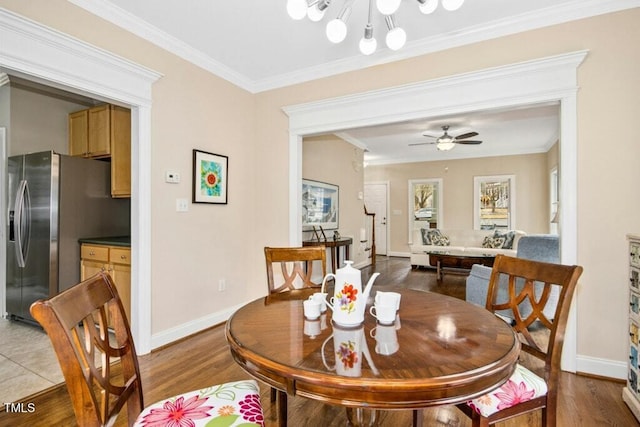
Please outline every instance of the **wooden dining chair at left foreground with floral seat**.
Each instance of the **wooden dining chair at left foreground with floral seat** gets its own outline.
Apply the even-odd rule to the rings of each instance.
[[[101,272],[47,300],[31,314],[53,344],[82,427],[111,426],[124,406],[132,425],[264,426],[254,380],[229,382],[143,405],[140,368],[129,321],[111,277]],[[124,412],[124,411],[123,411]],[[123,414],[124,415],[124,414]],[[222,418],[224,417],[224,418]]]

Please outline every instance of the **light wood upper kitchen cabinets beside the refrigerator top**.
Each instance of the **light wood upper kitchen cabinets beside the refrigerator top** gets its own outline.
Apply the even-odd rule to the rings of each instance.
[[[131,197],[131,111],[100,105],[69,114],[69,154],[111,158],[111,195]]]

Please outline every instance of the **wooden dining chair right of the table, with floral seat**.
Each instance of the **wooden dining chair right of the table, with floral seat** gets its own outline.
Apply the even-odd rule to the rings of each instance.
[[[486,308],[513,313],[512,327],[522,348],[514,374],[496,390],[458,405],[473,426],[489,426],[527,412],[542,410],[542,425],[556,425],[560,358],[573,293],[582,267],[496,256],[489,279]],[[506,277],[508,300],[497,301],[500,277]],[[504,280],[504,279],[503,279]],[[504,282],[503,282],[504,283]],[[545,315],[553,287],[559,299],[552,316]],[[529,304],[533,310],[529,313]],[[527,306],[527,314],[521,308]],[[527,365],[529,368],[525,368]],[[535,372],[538,372],[537,375]]]

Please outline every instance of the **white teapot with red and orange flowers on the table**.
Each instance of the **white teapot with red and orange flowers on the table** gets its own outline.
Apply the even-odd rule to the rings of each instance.
[[[367,298],[371,292],[374,280],[380,273],[373,273],[364,291],[360,270],[353,268],[353,261],[345,261],[345,266],[339,268],[336,274],[329,273],[322,281],[324,292],[327,280],[335,279],[335,292],[327,302],[327,306],[333,310],[333,321],[342,326],[357,326],[364,322],[364,311]]]

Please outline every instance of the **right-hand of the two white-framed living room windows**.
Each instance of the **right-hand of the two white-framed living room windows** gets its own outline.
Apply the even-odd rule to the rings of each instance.
[[[476,230],[515,228],[515,175],[473,178],[473,228]]]

